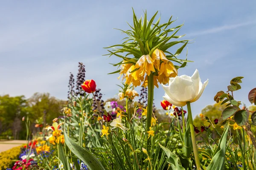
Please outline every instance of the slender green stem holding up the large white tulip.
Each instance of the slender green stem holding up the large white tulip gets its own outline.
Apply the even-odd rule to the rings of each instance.
[[[186,102],[186,104],[187,104],[187,108],[188,108],[189,127],[190,127],[193,151],[194,151],[194,156],[195,156],[195,164],[196,164],[197,170],[201,170],[201,164],[200,164],[200,160],[198,157],[198,149],[197,149],[196,140],[195,140],[195,131],[194,131],[190,102]]]

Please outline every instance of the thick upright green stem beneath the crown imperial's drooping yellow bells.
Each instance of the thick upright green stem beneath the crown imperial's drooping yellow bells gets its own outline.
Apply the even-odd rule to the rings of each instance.
[[[153,74],[151,73],[148,76],[147,130],[149,130],[149,127],[151,126],[153,99],[154,99],[154,79],[153,79]]]

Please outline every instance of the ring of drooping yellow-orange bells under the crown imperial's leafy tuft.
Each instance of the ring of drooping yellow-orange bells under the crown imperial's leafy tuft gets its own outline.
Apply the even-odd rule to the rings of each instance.
[[[127,61],[123,61],[125,63]],[[132,63],[122,64],[119,78],[124,75],[123,79],[126,79],[125,83],[130,85],[131,83],[136,87],[143,82],[143,86],[148,85],[148,76],[152,72],[157,72],[158,75],[154,75],[154,85],[158,87],[157,82],[166,84],[169,82],[170,77],[177,76],[177,69],[163,51],[156,49],[153,54],[143,55],[136,62],[135,65]],[[144,77],[145,76],[145,77]]]

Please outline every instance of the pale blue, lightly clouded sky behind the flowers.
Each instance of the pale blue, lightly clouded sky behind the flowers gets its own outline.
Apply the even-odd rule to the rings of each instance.
[[[179,75],[192,76],[197,68],[202,82],[209,79],[201,98],[192,103],[192,113],[201,113],[214,104],[218,91],[227,91],[233,77],[242,76],[242,89],[236,100],[250,105],[247,96],[255,88],[256,1],[215,0],[184,1],[15,1],[0,0],[0,95],[25,95],[49,92],[67,99],[70,72],[77,74],[83,62],[86,79],[94,79],[102,89],[103,99],[116,96],[119,74],[109,63],[118,57],[102,56],[104,47],[119,44],[132,23],[132,8],[138,17],[147,10],[148,17],[159,11],[160,23],[172,15],[172,26],[184,23],[178,32],[192,40],[189,62]],[[175,49],[174,49],[175,50]],[[172,49],[171,49],[172,51]],[[186,50],[179,56],[186,58]],[[139,91],[139,88],[136,88]],[[154,90],[154,103],[160,107],[163,88]]]

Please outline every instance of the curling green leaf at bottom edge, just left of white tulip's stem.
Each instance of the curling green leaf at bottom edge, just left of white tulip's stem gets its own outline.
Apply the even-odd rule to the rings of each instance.
[[[163,147],[160,143],[159,143],[159,145],[163,149],[163,151],[166,153],[166,155],[168,157],[167,162],[171,165],[172,170],[185,170],[185,168],[180,166],[180,164],[179,164],[179,157],[177,155],[173,154],[166,147]]]

